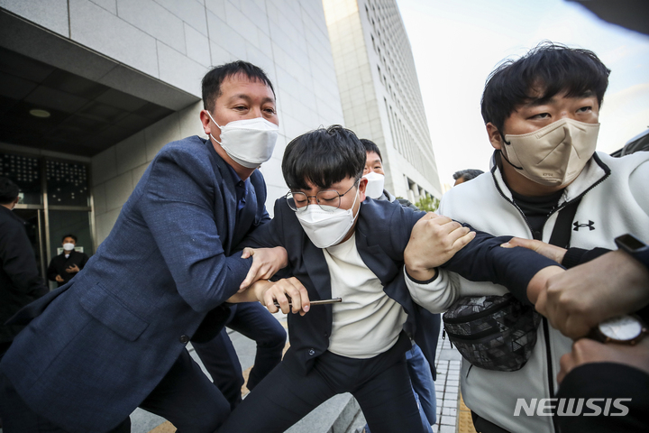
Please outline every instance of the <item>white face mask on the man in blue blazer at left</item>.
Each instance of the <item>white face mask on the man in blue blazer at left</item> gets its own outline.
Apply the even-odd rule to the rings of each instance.
[[[225,153],[234,162],[248,169],[255,169],[262,163],[269,161],[272,151],[277,143],[279,127],[263,117],[254,119],[235,120],[221,126],[207,111],[212,122],[221,130],[221,141],[210,136],[216,143],[221,144]]]

